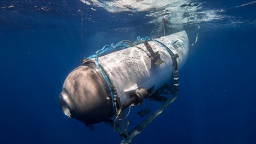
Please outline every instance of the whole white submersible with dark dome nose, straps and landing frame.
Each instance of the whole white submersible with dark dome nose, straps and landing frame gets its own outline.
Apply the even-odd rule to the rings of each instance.
[[[176,99],[178,71],[186,61],[188,49],[185,31],[157,39],[106,45],[83,59],[82,66],[66,77],[59,95],[61,110],[89,128],[101,122],[113,126],[122,136],[122,143],[129,143]],[[164,90],[173,97],[162,96]],[[128,132],[123,111],[130,105],[142,104],[145,99],[163,104]]]

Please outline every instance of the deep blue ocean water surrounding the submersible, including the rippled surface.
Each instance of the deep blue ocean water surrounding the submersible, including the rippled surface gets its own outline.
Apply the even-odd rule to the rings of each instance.
[[[120,143],[104,123],[89,131],[64,116],[58,95],[83,53],[162,36],[162,18],[167,35],[185,30],[196,43],[179,71],[179,97],[131,143],[256,143],[252,0],[1,0],[0,143]],[[137,112],[130,129],[142,121]]]

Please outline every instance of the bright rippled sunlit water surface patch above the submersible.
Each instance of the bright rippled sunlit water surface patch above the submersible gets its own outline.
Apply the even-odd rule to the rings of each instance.
[[[240,20],[237,16],[227,15],[226,11],[231,8],[219,8],[210,2],[201,3],[191,0],[87,0],[87,2],[92,6],[106,9],[110,13],[128,11],[130,12],[128,15],[132,16],[134,13],[144,11],[146,12],[145,16],[150,18],[147,23],[159,25],[159,32],[162,31],[162,18],[164,17],[166,25],[175,30],[183,30],[184,26],[190,27],[192,25],[204,25],[204,31],[218,30],[219,28],[239,27],[241,25],[240,22],[244,21]],[[233,8],[253,4],[256,4],[256,1]],[[210,21],[217,21],[218,23],[209,23]],[[248,24],[253,27],[255,22],[248,21]]]

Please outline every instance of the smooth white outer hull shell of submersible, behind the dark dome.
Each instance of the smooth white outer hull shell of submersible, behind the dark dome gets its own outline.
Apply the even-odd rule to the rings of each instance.
[[[188,54],[188,36],[185,31],[155,39],[166,45],[174,54],[178,54],[178,68],[180,69],[186,61]],[[177,41],[178,40],[178,41]],[[147,90],[154,86],[155,90],[161,88],[171,78],[173,73],[173,61],[171,55],[158,42],[149,41],[153,51],[159,52],[164,63],[154,67],[148,56],[147,48],[143,45],[129,47],[122,51],[113,52],[99,57],[99,63],[106,70],[109,78],[116,87],[121,104],[128,99],[125,90],[137,84]],[[175,43],[175,44],[174,44]],[[175,48],[175,45],[181,45]],[[145,52],[146,51],[146,52]]]

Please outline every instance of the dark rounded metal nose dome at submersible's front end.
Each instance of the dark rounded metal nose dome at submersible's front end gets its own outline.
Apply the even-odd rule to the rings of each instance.
[[[94,64],[71,71],[59,96],[61,111],[86,124],[100,123],[113,116],[113,102],[104,79]]]

